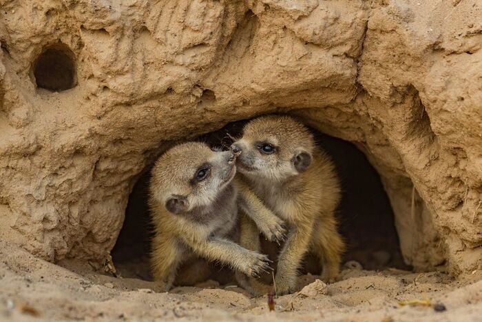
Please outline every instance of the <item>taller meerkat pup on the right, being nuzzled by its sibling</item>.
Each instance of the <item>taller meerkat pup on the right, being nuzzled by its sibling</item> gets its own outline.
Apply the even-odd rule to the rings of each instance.
[[[344,251],[335,219],[341,190],[333,162],[313,135],[291,117],[271,115],[247,123],[231,148],[240,153],[236,164],[246,183],[288,226],[277,262],[277,294],[295,290],[297,270],[310,250],[319,257],[322,279],[333,281]],[[259,250],[249,219],[240,236],[241,245]]]

